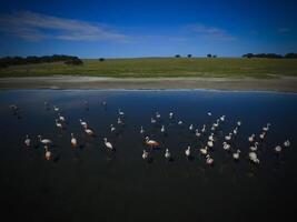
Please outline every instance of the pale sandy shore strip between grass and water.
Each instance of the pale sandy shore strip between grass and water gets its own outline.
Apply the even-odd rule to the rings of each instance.
[[[297,92],[297,78],[157,78],[117,79],[100,77],[0,78],[0,89],[215,89]]]

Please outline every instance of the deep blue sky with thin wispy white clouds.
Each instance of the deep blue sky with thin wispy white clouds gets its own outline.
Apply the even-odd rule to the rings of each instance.
[[[297,52],[294,0],[0,2],[0,57]]]

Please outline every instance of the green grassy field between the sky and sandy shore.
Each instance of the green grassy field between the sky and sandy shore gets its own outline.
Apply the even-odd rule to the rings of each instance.
[[[155,77],[297,77],[297,59],[141,58],[83,60],[83,65],[62,62],[14,65],[0,69],[0,77],[79,74],[115,78]]]

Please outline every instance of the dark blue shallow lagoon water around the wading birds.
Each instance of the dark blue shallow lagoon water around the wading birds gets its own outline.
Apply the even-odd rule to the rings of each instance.
[[[43,102],[51,104],[46,109]],[[83,103],[88,101],[88,105]],[[107,101],[107,105],[101,102]],[[297,189],[297,94],[278,92],[227,92],[211,90],[6,90],[0,92],[0,188],[2,211],[10,219],[31,221],[209,221],[257,220],[294,215]],[[18,104],[13,114],[9,104]],[[61,109],[67,128],[56,128]],[[117,124],[118,108],[125,125]],[[152,125],[155,112],[160,121]],[[212,115],[208,117],[207,112]],[[174,112],[174,120],[168,113]],[[220,115],[226,121],[216,132],[214,167],[199,154],[209,131],[200,140],[188,130],[201,129]],[[96,138],[79,124],[86,120]],[[177,124],[182,120],[184,125]],[[240,160],[222,150],[224,137],[240,120],[232,141]],[[267,123],[271,128],[259,148],[260,164],[248,159],[251,133]],[[117,133],[110,132],[110,124]],[[166,134],[160,132],[166,127]],[[142,160],[146,134],[160,141],[151,162]],[[79,147],[70,145],[73,132]],[[26,149],[23,140],[33,140]],[[37,135],[53,141],[52,160],[44,160]],[[105,149],[107,137],[116,152]],[[291,147],[276,155],[274,148],[289,139]],[[192,160],[185,149],[192,147]],[[165,149],[172,161],[165,160]],[[295,204],[296,205],[296,204]]]

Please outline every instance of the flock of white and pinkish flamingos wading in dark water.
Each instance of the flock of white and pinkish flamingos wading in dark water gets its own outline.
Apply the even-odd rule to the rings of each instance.
[[[88,105],[88,102],[85,101],[85,104]],[[107,102],[103,101],[101,104],[106,107]],[[50,105],[48,102],[44,102],[44,107],[47,109],[50,109],[50,107],[53,108],[55,112],[57,113],[57,118],[55,119],[56,127],[58,129],[63,129],[65,125],[67,124],[67,121],[66,121],[67,118],[60,114],[60,108],[58,108],[56,105]],[[14,114],[19,112],[19,108],[16,104],[10,105],[9,108],[12,109]],[[208,112],[207,114],[209,117],[212,115],[211,112]],[[151,124],[154,125],[154,124],[158,123],[160,118],[161,118],[160,113],[156,112],[154,114],[154,117],[151,117],[151,119],[150,119]],[[174,120],[175,113],[169,112],[167,118]],[[212,124],[210,124],[209,127],[207,127],[207,124],[204,124],[201,129],[194,129],[194,124],[190,124],[188,127],[188,130],[191,131],[192,133],[195,133],[197,140],[199,140],[201,137],[206,137],[206,139],[207,139],[206,144],[204,144],[199,149],[200,154],[202,157],[205,157],[206,164],[212,165],[215,163],[215,160],[211,157],[211,149],[216,142],[216,130],[225,121],[225,118],[226,118],[225,115],[221,115]],[[118,109],[117,124],[121,125],[121,124],[123,124],[123,122],[125,122],[125,112],[121,111],[121,109]],[[83,130],[83,132],[87,135],[89,135],[89,137],[95,135],[95,131],[89,127],[88,122],[80,119],[80,120],[78,120],[78,123],[81,125],[81,129]],[[177,121],[177,124],[182,125],[184,122],[181,120],[179,120],[179,121]],[[113,124],[110,124],[110,132],[112,132],[112,133],[116,132],[117,131],[116,127]],[[237,121],[234,130],[225,135],[225,138],[224,138],[225,141],[221,144],[221,148],[224,150],[231,152],[232,159],[235,161],[240,159],[240,150],[234,149],[231,145],[232,144],[231,141],[238,134],[240,127],[241,127],[241,121]],[[249,152],[248,152],[247,158],[251,163],[255,163],[255,164],[260,163],[259,157],[257,154],[258,145],[265,140],[270,127],[271,127],[270,123],[267,123],[266,125],[263,127],[261,133],[259,135],[256,135],[255,133],[253,133],[250,137],[247,138],[247,141],[249,142]],[[165,125],[161,125],[161,128],[159,130],[160,130],[160,133],[165,133],[166,132]],[[150,151],[152,151],[154,149],[159,149],[161,145],[157,140],[152,140],[146,134],[146,130],[143,129],[142,125],[139,127],[139,133],[143,137],[143,142],[147,147],[146,149],[143,149],[142,159],[149,160]],[[103,138],[102,140],[103,140],[103,144],[105,144],[107,150],[115,151],[113,144],[111,142],[109,142],[107,138]],[[46,160],[51,160],[52,153],[51,153],[50,147],[52,144],[52,140],[48,139],[48,138],[43,138],[42,135],[38,135],[38,141],[44,148]],[[28,134],[26,135],[23,143],[24,143],[26,148],[32,147],[32,140],[30,139],[30,137]],[[78,139],[76,138],[76,135],[73,133],[71,133],[71,140],[69,141],[69,143],[71,144],[72,148],[76,148],[78,145]],[[276,145],[274,148],[274,152],[279,154],[284,149],[286,149],[288,147],[290,147],[290,141],[286,140],[283,142],[283,144]],[[192,155],[192,150],[191,150],[191,147],[188,145],[185,149],[185,157],[191,158],[191,155]],[[168,161],[171,160],[171,153],[170,153],[169,149],[165,150],[164,157]]]

